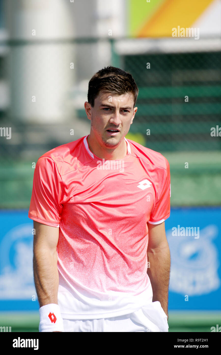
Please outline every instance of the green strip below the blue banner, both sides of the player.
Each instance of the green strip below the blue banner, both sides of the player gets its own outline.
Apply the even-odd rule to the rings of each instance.
[[[169,332],[211,332],[221,326],[221,311],[170,311]],[[38,332],[38,312],[0,312],[0,326],[11,332]]]

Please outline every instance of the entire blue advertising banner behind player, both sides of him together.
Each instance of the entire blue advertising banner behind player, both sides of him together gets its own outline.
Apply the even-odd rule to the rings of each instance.
[[[0,223],[0,311],[38,310],[33,221],[28,211],[0,211]],[[221,208],[172,208],[165,229],[169,310],[220,310]]]

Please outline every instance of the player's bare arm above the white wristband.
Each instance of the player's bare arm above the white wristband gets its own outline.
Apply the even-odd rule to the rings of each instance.
[[[57,243],[59,228],[34,221],[34,283],[40,307],[55,303],[58,294]]]

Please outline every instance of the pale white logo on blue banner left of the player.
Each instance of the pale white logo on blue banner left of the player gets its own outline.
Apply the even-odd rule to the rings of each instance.
[[[32,223],[16,226],[0,242],[0,299],[31,299],[33,279]]]

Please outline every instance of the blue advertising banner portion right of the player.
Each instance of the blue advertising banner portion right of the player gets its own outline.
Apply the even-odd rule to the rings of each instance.
[[[172,209],[170,310],[221,309],[221,208]]]

